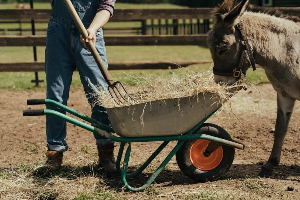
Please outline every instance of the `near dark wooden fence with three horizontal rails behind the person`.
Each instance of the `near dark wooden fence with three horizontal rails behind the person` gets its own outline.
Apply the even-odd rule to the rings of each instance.
[[[278,8],[285,13],[300,15],[300,8]],[[0,20],[49,20],[49,9],[0,10]],[[210,19],[211,8],[186,9],[116,9],[111,21],[136,21],[148,19]],[[175,21],[176,22],[176,21]],[[197,21],[198,23],[198,21]],[[152,34],[159,34],[159,27],[153,26]],[[178,29],[177,29],[178,28]],[[182,34],[179,26],[172,29],[173,33]],[[192,29],[195,29],[192,27]],[[143,30],[142,30],[143,31]],[[199,33],[196,31],[195,33]],[[206,46],[206,35],[134,35],[107,36],[106,45],[136,46],[136,45],[200,45]],[[0,46],[45,46],[46,36],[0,36]],[[195,64],[184,62],[180,65]],[[199,62],[197,62],[199,63]],[[15,66],[15,67],[14,67]],[[31,66],[31,67],[30,67]],[[40,71],[43,63],[0,63],[0,71]],[[150,66],[150,67],[149,67]],[[167,66],[177,68],[178,65],[162,62],[130,62],[110,63],[110,69],[166,69]]]

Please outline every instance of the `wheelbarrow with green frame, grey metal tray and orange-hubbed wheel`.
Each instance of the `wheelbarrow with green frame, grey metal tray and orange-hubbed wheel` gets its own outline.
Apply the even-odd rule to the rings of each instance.
[[[48,109],[26,110],[23,111],[23,116],[54,115],[99,134],[103,138],[121,143],[116,167],[121,174],[122,183],[131,191],[141,191],[152,184],[175,154],[181,171],[196,181],[216,180],[229,170],[234,159],[235,148],[244,149],[244,144],[232,140],[223,128],[205,123],[221,107],[217,102],[219,101],[216,94],[199,93],[194,97],[164,99],[137,105],[106,108],[111,127],[49,99],[27,100],[27,104],[53,105],[92,125]],[[128,174],[131,143],[154,141],[163,141],[163,143],[137,171]],[[147,182],[141,187],[129,185],[127,178],[137,177],[141,174],[170,141],[178,142]],[[125,144],[128,146],[121,167]]]

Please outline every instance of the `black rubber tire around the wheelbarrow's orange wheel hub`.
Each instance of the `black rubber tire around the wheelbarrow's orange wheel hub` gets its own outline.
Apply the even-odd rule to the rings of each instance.
[[[205,123],[194,134],[206,134],[231,141],[230,135],[220,126]],[[186,141],[176,153],[176,161],[180,170],[193,180],[205,182],[214,181],[222,177],[231,167],[235,149],[223,145],[223,159],[220,164],[209,171],[202,171],[194,167],[190,161],[190,148],[196,140]]]

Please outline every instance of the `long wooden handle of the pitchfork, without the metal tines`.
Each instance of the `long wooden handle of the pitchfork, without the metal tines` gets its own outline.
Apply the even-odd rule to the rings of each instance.
[[[63,0],[64,4],[66,5],[69,13],[71,14],[77,28],[79,29],[79,32],[81,33],[82,37],[86,40],[86,38],[88,37],[88,32],[85,29],[85,26],[83,25],[81,19],[79,18],[71,0]],[[112,86],[114,84],[113,82],[113,78],[111,77],[111,75],[108,73],[106,66],[104,65],[103,60],[101,59],[101,56],[99,55],[93,41],[89,41],[88,43],[86,43],[86,46],[88,47],[88,49],[91,51],[105,81],[107,82],[107,84],[109,86]]]

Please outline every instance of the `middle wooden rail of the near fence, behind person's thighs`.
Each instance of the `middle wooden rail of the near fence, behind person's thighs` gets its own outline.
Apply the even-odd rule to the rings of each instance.
[[[107,46],[198,45],[206,46],[207,35],[106,36]],[[0,47],[46,46],[46,36],[0,36]]]

